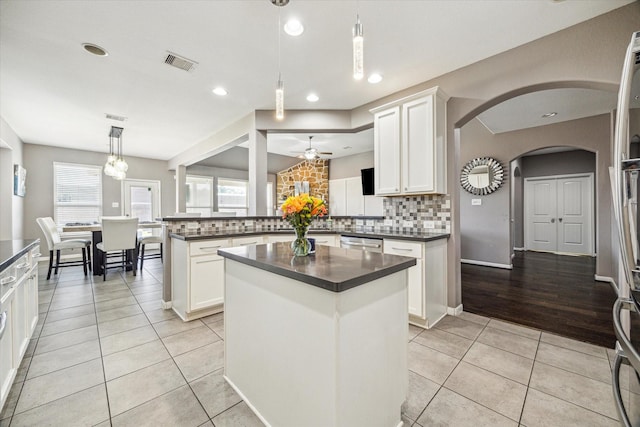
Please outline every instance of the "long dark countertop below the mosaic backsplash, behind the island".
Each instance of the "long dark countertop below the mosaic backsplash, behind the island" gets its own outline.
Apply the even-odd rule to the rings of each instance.
[[[242,236],[254,236],[259,234],[293,234],[293,229],[277,229],[277,230],[260,230],[260,231],[235,231],[219,233],[206,233],[206,234],[191,234],[191,233],[171,233],[170,237],[179,240],[209,240],[209,239],[225,239],[229,237],[242,237]],[[396,239],[396,240],[413,240],[417,242],[428,242],[431,240],[446,239],[449,237],[449,233],[446,232],[430,232],[430,233],[411,233],[401,231],[365,231],[359,229],[333,229],[328,230],[324,228],[311,229],[309,234],[337,234],[340,236],[356,236],[356,237],[369,237],[380,239]]]

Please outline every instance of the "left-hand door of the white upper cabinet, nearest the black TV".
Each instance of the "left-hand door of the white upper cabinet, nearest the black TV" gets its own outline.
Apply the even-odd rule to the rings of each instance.
[[[400,194],[400,107],[375,114],[373,145],[376,195]]]

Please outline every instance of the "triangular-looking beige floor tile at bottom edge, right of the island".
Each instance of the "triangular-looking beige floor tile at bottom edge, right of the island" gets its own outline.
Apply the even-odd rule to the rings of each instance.
[[[446,388],[441,388],[418,418],[421,426],[517,427],[518,423]]]

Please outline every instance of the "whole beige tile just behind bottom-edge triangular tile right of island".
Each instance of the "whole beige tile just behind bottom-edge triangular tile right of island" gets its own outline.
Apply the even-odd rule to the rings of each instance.
[[[514,421],[520,419],[527,394],[526,385],[465,362],[453,370],[444,386]]]

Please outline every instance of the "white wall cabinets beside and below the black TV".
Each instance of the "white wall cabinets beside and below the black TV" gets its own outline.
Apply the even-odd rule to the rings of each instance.
[[[382,216],[383,199],[362,195],[362,178],[339,178],[329,181],[329,214],[333,216]]]

